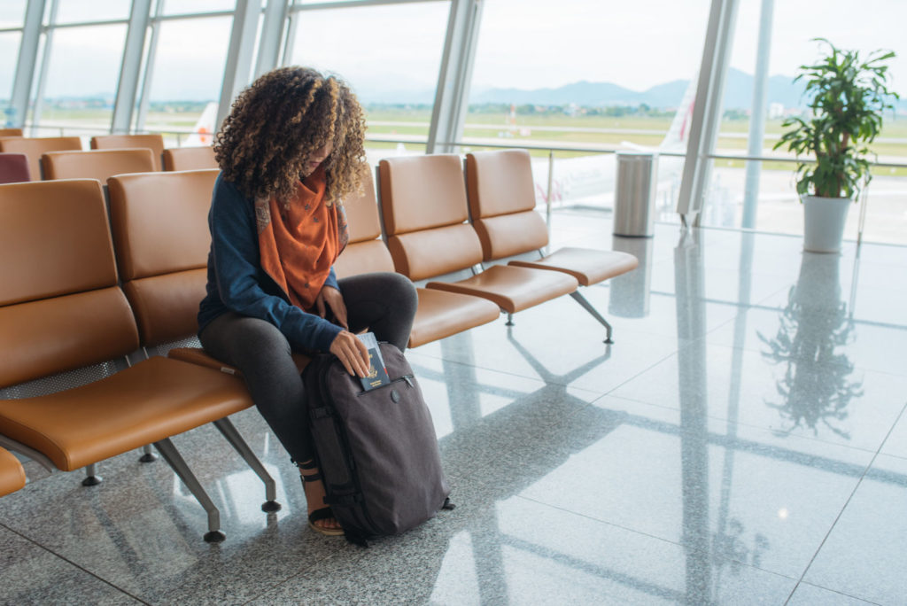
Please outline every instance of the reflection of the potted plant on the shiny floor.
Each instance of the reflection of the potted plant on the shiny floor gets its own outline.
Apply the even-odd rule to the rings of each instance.
[[[843,350],[853,340],[853,320],[841,300],[839,262],[837,255],[804,252],[777,335],[759,338],[769,347],[763,356],[786,365],[777,384],[783,400],[766,406],[790,422],[788,431],[803,425],[818,435],[821,424],[849,439],[841,422],[851,399],[863,396],[863,382],[850,379],[853,362]]]

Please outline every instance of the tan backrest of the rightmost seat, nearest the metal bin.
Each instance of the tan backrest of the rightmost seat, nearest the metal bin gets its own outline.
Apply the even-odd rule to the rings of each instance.
[[[535,211],[532,160],[526,150],[466,154],[466,191],[485,260],[548,245],[548,228]]]

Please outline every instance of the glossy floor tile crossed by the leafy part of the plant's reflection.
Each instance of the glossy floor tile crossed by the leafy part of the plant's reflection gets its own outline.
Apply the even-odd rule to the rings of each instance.
[[[614,391],[613,396],[708,414],[789,435],[875,452],[904,404],[907,375],[785,360],[697,341]]]

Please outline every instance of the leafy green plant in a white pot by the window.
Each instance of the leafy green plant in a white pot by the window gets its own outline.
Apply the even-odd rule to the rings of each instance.
[[[887,88],[892,51],[875,51],[863,60],[824,38],[828,52],[814,65],[801,65],[794,82],[805,80],[808,119],[792,117],[773,149],[786,146],[798,157],[796,191],[804,204],[804,249],[838,252],[851,201],[871,178],[869,143],[882,130],[886,109],[898,98]]]

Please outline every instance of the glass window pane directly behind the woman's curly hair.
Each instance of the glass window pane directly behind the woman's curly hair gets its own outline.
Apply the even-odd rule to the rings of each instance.
[[[301,10],[290,63],[350,84],[366,108],[370,157],[423,153],[449,13],[447,2]]]

